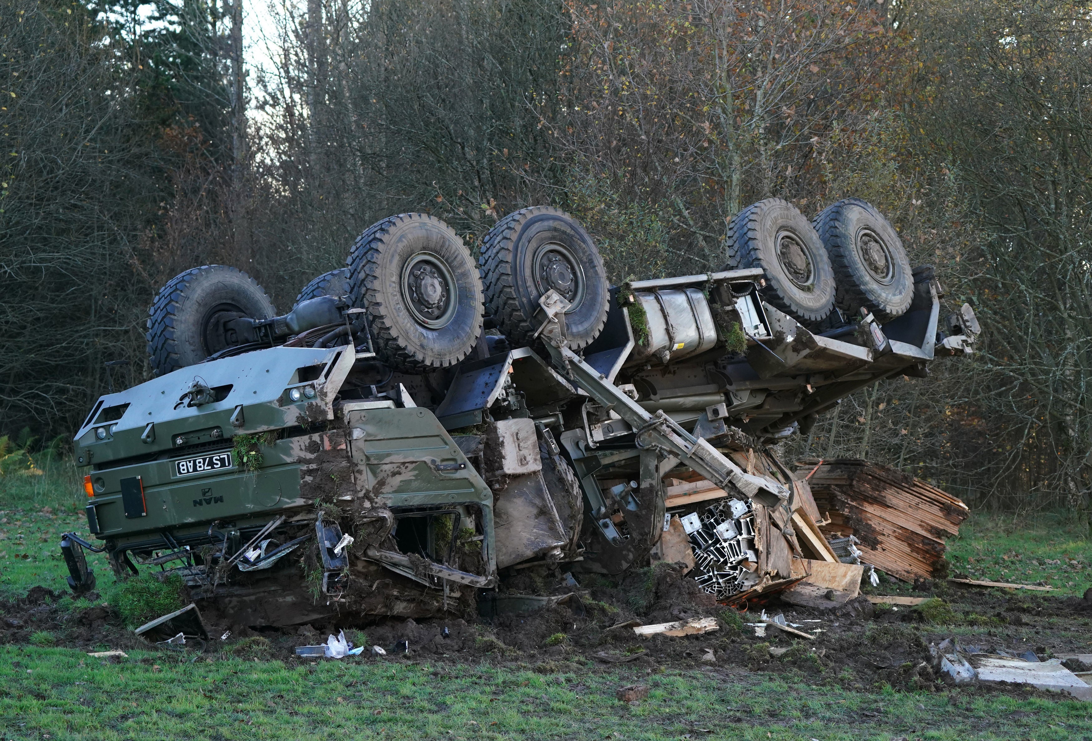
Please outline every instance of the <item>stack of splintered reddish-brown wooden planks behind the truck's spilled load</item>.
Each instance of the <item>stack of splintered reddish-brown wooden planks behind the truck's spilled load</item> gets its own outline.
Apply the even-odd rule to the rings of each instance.
[[[802,461],[807,474],[817,461]],[[906,582],[942,577],[945,540],[959,535],[968,507],[934,486],[894,468],[853,458],[828,461],[808,481],[828,538],[854,536],[860,560]],[[828,515],[829,513],[829,515]]]

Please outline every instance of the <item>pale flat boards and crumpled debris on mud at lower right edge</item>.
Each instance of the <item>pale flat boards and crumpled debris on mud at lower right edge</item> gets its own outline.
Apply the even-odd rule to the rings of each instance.
[[[961,647],[951,638],[929,646],[934,666],[956,684],[1031,684],[1040,690],[1065,692],[1078,700],[1092,701],[1092,686],[1061,666],[1061,659],[1040,661],[1030,652],[1021,658],[980,652],[975,646]]]

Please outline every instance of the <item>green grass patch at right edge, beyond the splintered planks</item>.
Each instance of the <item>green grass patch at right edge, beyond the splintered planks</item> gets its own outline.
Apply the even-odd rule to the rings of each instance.
[[[1088,523],[1059,513],[972,514],[948,541],[951,572],[971,578],[1053,586],[1052,594],[1082,595],[1092,587]]]

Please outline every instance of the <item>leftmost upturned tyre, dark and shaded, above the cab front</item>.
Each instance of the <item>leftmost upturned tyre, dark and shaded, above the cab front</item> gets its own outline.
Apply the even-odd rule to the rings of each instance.
[[[147,355],[163,375],[199,363],[232,343],[221,322],[226,314],[269,319],[276,314],[265,290],[227,265],[202,265],[171,278],[147,310]]]

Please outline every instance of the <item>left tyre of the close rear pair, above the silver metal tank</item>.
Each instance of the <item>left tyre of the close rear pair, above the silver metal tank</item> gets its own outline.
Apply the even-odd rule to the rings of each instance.
[[[834,308],[834,271],[808,219],[781,199],[752,203],[728,223],[726,271],[761,267],[762,298],[810,323]]]

